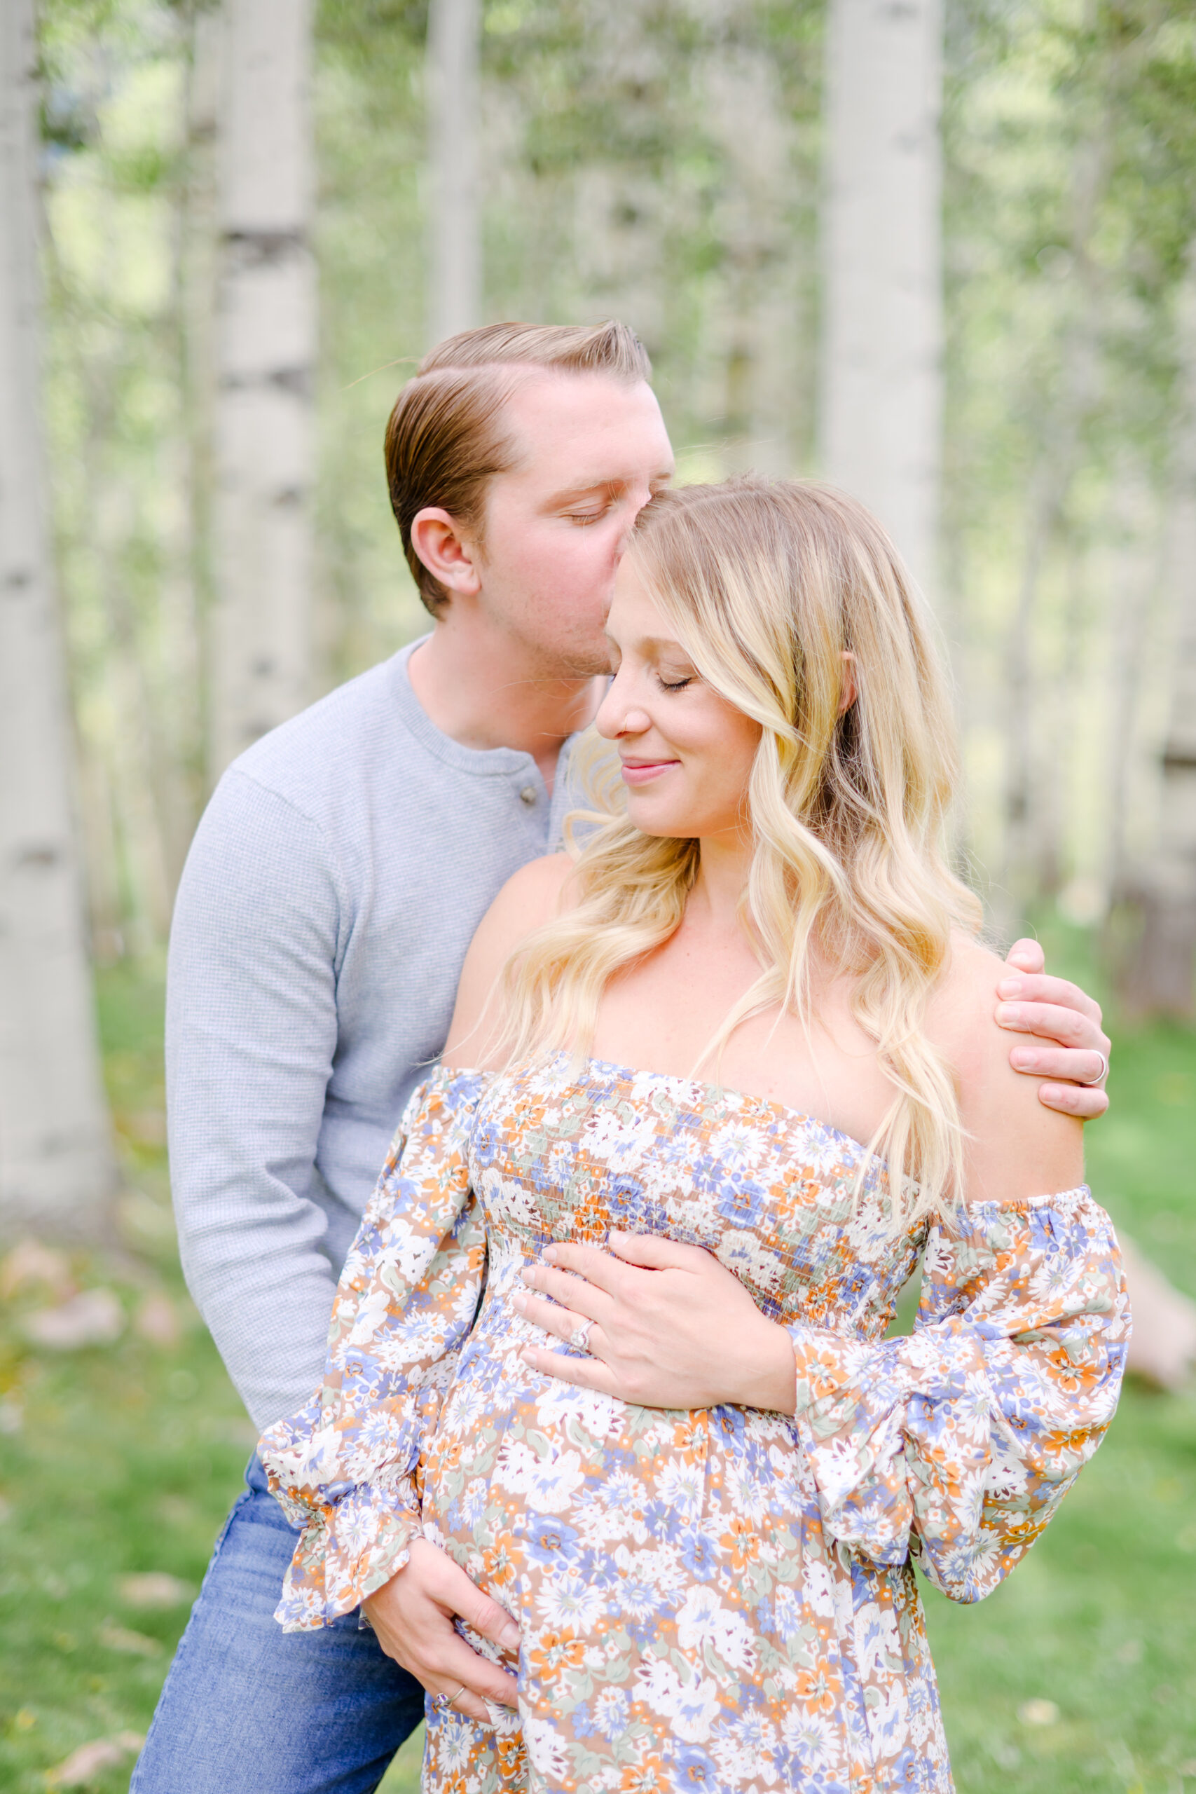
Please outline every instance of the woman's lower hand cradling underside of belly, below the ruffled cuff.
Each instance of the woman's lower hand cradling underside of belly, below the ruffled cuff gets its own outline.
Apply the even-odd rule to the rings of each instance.
[[[515,1706],[515,1677],[466,1645],[452,1622],[459,1615],[511,1656],[518,1652],[518,1625],[438,1545],[412,1539],[407,1564],[362,1606],[387,1658],[429,1694],[455,1697],[455,1713],[488,1726],[486,1701]]]

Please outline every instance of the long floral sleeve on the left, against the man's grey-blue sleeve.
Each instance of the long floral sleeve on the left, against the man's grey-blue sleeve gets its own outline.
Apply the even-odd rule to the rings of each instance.
[[[468,1146],[484,1076],[438,1069],[403,1116],[344,1261],[325,1381],[258,1455],[303,1527],[274,1615],[328,1625],[403,1568],[420,1532],[418,1464],[486,1276]]]

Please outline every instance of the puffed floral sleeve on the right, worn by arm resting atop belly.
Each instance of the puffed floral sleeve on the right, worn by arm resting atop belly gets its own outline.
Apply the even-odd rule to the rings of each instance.
[[[877,1563],[913,1554],[952,1600],[981,1600],[1099,1446],[1130,1304],[1114,1225],[1081,1188],[936,1225],[909,1338],[789,1331],[825,1530]]]

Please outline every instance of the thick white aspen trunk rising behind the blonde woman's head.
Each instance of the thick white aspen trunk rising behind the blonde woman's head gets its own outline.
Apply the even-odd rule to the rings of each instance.
[[[832,0],[821,463],[927,592],[943,420],[941,0]]]

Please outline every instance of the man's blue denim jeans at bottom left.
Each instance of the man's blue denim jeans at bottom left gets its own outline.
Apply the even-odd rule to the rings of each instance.
[[[423,1688],[357,1613],[274,1620],[296,1534],[249,1460],[161,1690],[129,1794],[366,1794],[423,1719]]]

